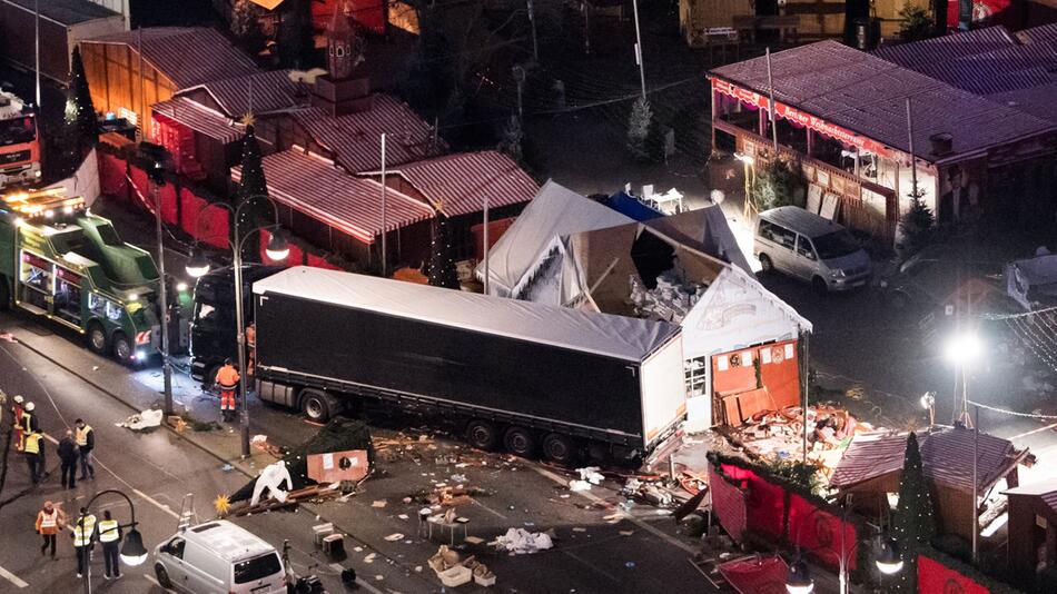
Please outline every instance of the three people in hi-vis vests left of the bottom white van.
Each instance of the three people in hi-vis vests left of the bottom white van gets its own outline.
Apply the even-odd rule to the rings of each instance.
[[[77,555],[77,577],[83,577],[88,571],[88,564],[91,563],[91,552],[95,543],[102,544],[102,557],[106,567],[105,577],[107,580],[119,580],[121,577],[121,566],[118,563],[118,547],[121,544],[121,525],[113,519],[110,511],[102,513],[102,521],[97,522],[96,516],[87,508],[81,507],[76,518],[68,518],[62,512],[61,504],[47,501],[45,506],[37,513],[37,533],[43,538],[40,545],[40,554],[47,555],[50,548],[51,558],[56,557],[57,536],[66,528],[70,529],[70,538],[73,539],[73,552]]]

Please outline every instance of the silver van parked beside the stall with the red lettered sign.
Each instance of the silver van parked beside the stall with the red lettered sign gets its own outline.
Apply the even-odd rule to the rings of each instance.
[[[873,274],[870,257],[847,229],[796,206],[760,212],[752,253],[764,273],[807,280],[819,293],[862,287]]]

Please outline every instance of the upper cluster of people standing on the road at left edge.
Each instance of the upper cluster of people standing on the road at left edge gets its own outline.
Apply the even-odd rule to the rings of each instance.
[[[26,458],[30,481],[34,485],[45,478],[43,430],[37,417],[37,407],[22,396],[12,398],[11,416],[14,419],[13,439],[16,449]],[[77,419],[72,429],[67,429],[59,442],[59,459],[62,463],[62,486],[73,488],[80,463],[81,481],[96,478],[92,451],[96,448],[96,432],[83,419]]]

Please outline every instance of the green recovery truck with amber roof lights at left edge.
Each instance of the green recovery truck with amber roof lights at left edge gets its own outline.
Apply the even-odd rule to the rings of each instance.
[[[81,197],[10,194],[0,207],[0,307],[72,328],[126,364],[159,352],[158,269]]]

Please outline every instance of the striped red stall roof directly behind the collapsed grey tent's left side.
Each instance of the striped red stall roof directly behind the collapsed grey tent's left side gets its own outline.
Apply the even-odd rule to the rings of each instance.
[[[431,204],[450,217],[480,212],[532,199],[540,187],[506,155],[495,150],[457,152],[394,167]],[[372,171],[378,176],[381,171]]]

